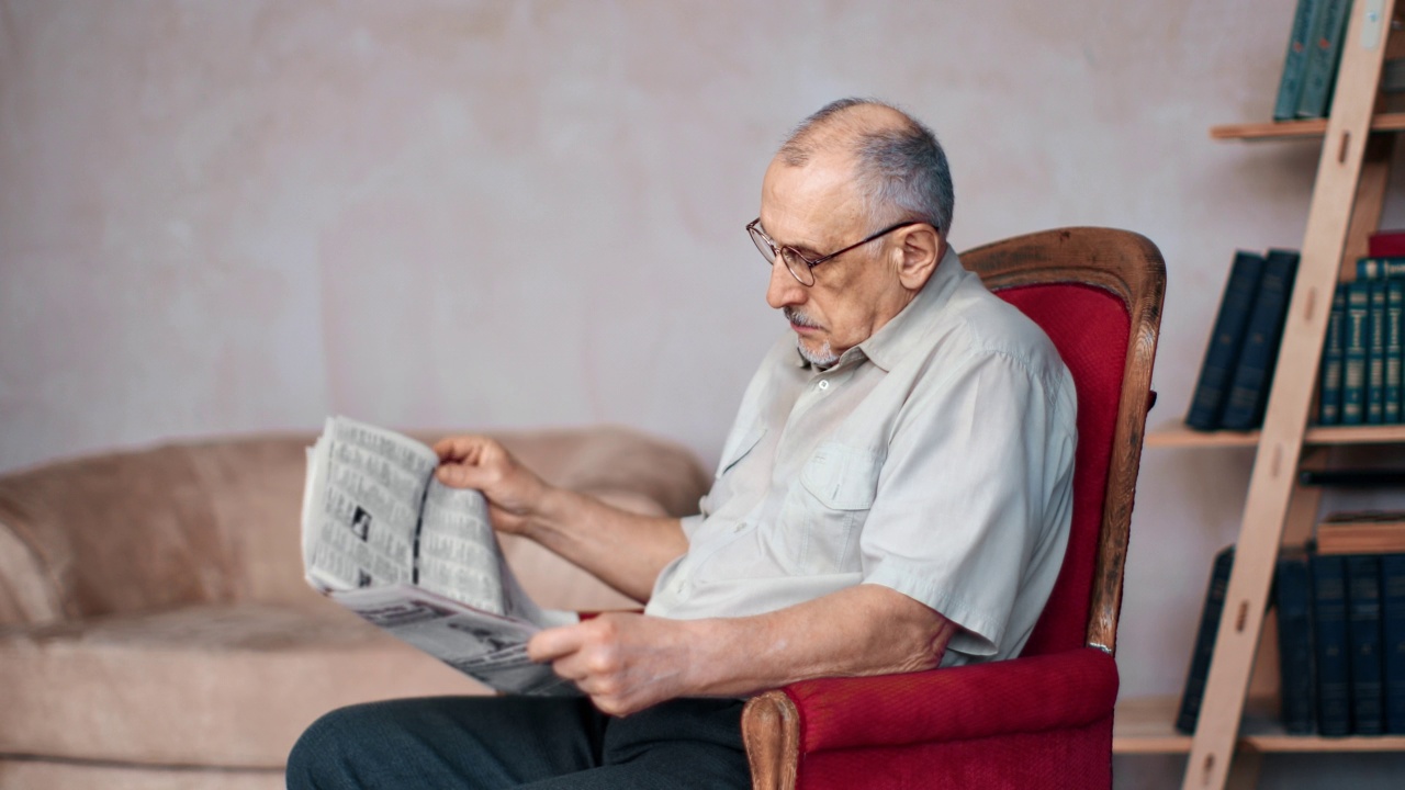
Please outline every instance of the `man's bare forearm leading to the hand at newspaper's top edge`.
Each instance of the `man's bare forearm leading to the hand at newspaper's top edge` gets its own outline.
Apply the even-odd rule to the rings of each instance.
[[[629,513],[559,488],[542,495],[523,534],[639,602],[688,547],[677,519]]]

